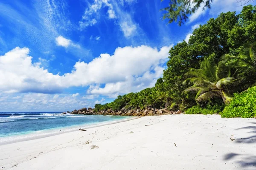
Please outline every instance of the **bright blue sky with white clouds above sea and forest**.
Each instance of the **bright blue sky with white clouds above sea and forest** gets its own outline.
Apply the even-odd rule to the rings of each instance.
[[[236,0],[213,0],[182,26],[169,0],[1,0],[0,111],[73,111],[153,87],[169,49]],[[251,2],[255,5],[256,2]]]

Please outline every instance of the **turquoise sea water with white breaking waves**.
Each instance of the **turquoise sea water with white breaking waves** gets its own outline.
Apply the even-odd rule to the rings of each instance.
[[[0,112],[0,137],[22,135],[39,130],[97,125],[127,119],[125,116],[61,115],[61,112]]]

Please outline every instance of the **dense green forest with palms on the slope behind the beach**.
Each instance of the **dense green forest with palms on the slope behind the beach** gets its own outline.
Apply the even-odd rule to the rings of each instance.
[[[188,114],[256,116],[256,88],[251,88],[256,85],[255,42],[256,6],[244,6],[238,15],[221,13],[196,28],[188,43],[170,49],[167,69],[154,87],[96,104],[95,111],[151,107]],[[240,107],[241,103],[247,106]]]

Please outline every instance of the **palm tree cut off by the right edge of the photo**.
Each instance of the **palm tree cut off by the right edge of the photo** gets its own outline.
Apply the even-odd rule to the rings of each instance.
[[[250,43],[244,45],[247,55],[240,55],[239,57],[226,55],[225,61],[230,59],[228,64],[230,68],[236,69],[234,76],[238,91],[244,91],[249,87],[256,85],[256,43]]]

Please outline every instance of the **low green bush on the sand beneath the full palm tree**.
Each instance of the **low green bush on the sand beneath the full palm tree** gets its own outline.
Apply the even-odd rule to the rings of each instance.
[[[218,114],[224,108],[224,105],[207,105],[206,108],[201,108],[199,105],[188,108],[185,114]]]

